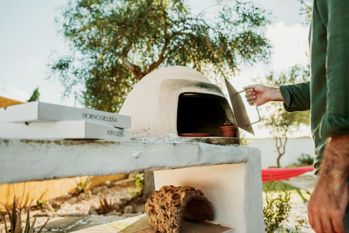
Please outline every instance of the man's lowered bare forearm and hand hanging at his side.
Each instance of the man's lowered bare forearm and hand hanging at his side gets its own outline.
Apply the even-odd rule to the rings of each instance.
[[[317,233],[345,233],[349,176],[349,135],[328,138],[320,178],[308,202],[309,223]]]

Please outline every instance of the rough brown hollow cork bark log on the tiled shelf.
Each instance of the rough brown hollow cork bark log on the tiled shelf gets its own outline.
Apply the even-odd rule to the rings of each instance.
[[[155,232],[179,233],[182,221],[213,220],[213,206],[200,190],[164,186],[146,202],[148,223]]]

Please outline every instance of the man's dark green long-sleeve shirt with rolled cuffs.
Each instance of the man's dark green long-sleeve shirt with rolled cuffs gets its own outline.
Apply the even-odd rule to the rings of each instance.
[[[311,79],[280,87],[288,112],[310,109],[318,170],[327,137],[349,134],[349,1],[314,0]]]

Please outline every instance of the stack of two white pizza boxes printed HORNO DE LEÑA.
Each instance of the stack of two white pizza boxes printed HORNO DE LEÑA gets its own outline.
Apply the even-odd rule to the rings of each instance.
[[[130,140],[131,117],[42,102],[0,108],[0,138]]]

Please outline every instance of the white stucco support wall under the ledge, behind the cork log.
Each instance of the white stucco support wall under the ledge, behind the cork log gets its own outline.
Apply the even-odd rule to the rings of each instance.
[[[155,189],[166,185],[200,189],[213,205],[213,223],[231,227],[234,233],[262,233],[265,229],[259,156],[251,153],[240,164],[154,171]]]

